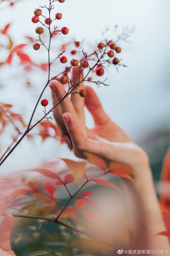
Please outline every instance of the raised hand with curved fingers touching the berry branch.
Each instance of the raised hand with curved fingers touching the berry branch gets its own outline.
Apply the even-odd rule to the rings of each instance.
[[[72,71],[71,81],[77,79],[78,67]],[[83,74],[80,74],[80,81]],[[51,81],[53,105],[61,100],[66,91],[59,81]],[[74,92],[83,88],[83,83]],[[71,94],[65,98],[55,109],[54,118],[64,135],[69,134],[77,157],[85,158],[84,151],[97,154],[106,160],[118,161],[138,169],[139,165],[148,166],[147,154],[105,113],[94,90],[85,86],[87,96],[82,98],[79,94]],[[94,128],[85,126],[84,106],[94,118]]]

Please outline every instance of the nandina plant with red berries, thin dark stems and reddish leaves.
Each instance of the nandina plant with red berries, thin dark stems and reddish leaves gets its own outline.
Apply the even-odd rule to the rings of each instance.
[[[4,29],[1,30],[3,35],[6,35],[9,40],[8,49],[10,53],[6,61],[4,61],[3,65],[8,64],[11,65],[14,56],[17,56],[20,59],[20,64],[25,65],[26,70],[29,70],[31,67],[40,67],[41,69],[48,70],[47,81],[44,84],[43,89],[40,92],[40,95],[37,99],[37,103],[34,106],[34,110],[31,113],[31,118],[28,120],[27,125],[23,121],[23,117],[17,113],[11,111],[12,105],[9,104],[0,104],[0,115],[2,122],[2,130],[7,127],[7,125],[12,125],[14,131],[17,132],[17,135],[14,137],[11,145],[8,146],[6,151],[2,154],[0,158],[0,166],[5,162],[5,160],[11,155],[11,153],[15,150],[17,145],[25,138],[31,138],[31,132],[34,131],[34,128],[39,127],[39,134],[42,137],[42,140],[45,140],[47,137],[50,137],[49,129],[53,129],[55,132],[54,137],[59,137],[59,139],[63,142],[64,138],[59,131],[59,128],[54,125],[49,119],[52,119],[52,112],[54,108],[57,107],[66,97],[70,94],[79,94],[80,97],[87,96],[87,91],[85,89],[79,90],[79,85],[82,81],[87,81],[92,84],[96,84],[97,87],[100,86],[108,86],[106,83],[106,78],[102,79],[102,76],[105,75],[105,70],[109,67],[113,66],[118,68],[120,66],[126,67],[121,63],[121,59],[119,59],[119,53],[121,52],[121,48],[117,46],[116,40],[113,41],[108,39],[103,39],[98,44],[96,44],[95,50],[89,52],[85,52],[82,49],[82,43],[79,41],[68,41],[64,46],[62,45],[62,50],[56,53],[55,57],[51,57],[51,42],[55,40],[56,37],[67,36],[71,33],[71,28],[67,28],[63,26],[59,28],[57,26],[57,21],[63,19],[63,15],[59,12],[56,15],[52,15],[51,11],[54,9],[54,2],[57,2],[57,11],[59,10],[59,4],[64,3],[65,0],[49,0],[48,6],[40,6],[39,8],[33,10],[33,17],[30,17],[30,22],[35,23],[35,33],[37,34],[37,39],[33,40],[29,38],[29,44],[32,45],[32,51],[41,52],[42,47],[46,49],[48,64],[35,64],[31,61],[31,58],[23,52],[26,44],[20,44],[17,46],[13,45],[13,41],[11,41],[11,37],[8,35],[8,29],[10,28],[10,24],[7,24]],[[43,35],[45,31],[48,32],[48,42],[43,39]],[[120,38],[119,38],[120,39]],[[71,55],[74,58],[69,60],[69,54],[67,47],[72,47]],[[75,57],[76,55],[76,57]],[[69,60],[69,61],[68,61]],[[51,74],[51,67],[56,64],[62,68],[62,71],[58,74]],[[64,64],[67,66],[65,67]],[[47,67],[48,66],[48,67]],[[77,79],[75,81],[71,80],[70,71],[72,68],[77,67]],[[84,73],[83,79],[81,78],[82,73]],[[95,79],[97,77],[97,79]],[[48,99],[45,99],[43,96],[48,84],[52,80],[58,80],[61,84],[64,84],[67,88],[67,93],[65,96],[52,108],[48,108]],[[43,115],[37,121],[33,122],[34,115],[37,111],[37,106],[41,104],[43,108]],[[12,118],[11,118],[12,117]],[[15,122],[17,120],[17,123]],[[24,133],[21,132],[20,125],[26,130]],[[22,127],[22,128],[23,128]],[[112,189],[116,189],[118,192],[121,192],[119,187],[114,185],[113,183],[102,179],[106,175],[116,175],[125,177],[133,182],[132,171],[128,168],[128,166],[122,165],[121,163],[105,163],[105,160],[85,152],[86,158],[89,162],[98,166],[100,172],[91,177],[88,174],[88,162],[75,162],[68,159],[62,159],[68,166],[68,173],[61,173],[59,175],[55,171],[51,171],[51,168],[38,168],[34,170],[29,170],[31,172],[38,172],[39,175],[43,175],[47,180],[44,183],[39,184],[34,180],[28,180],[24,184],[24,188],[22,189],[13,189],[12,192],[7,195],[3,193],[1,196],[4,201],[6,201],[8,205],[8,209],[17,209],[18,211],[22,211],[22,214],[16,214],[16,212],[12,212],[12,214],[16,218],[26,218],[26,219],[34,219],[39,223],[39,228],[42,226],[44,221],[49,221],[54,224],[60,225],[62,227],[67,227],[70,230],[74,230],[75,232],[85,235],[95,241],[98,241],[100,244],[104,244],[104,246],[113,249],[119,249],[111,243],[108,243],[102,239],[98,239],[94,236],[85,233],[76,227],[76,219],[78,218],[79,212],[81,212],[87,218],[95,219],[95,214],[93,212],[88,212],[84,208],[89,204],[94,209],[98,210],[98,205],[92,201],[89,197],[92,195],[92,191],[85,190],[82,192],[82,189],[86,188],[88,183],[96,183],[101,186],[108,186]],[[79,170],[79,174],[75,172]],[[71,192],[68,188],[68,184],[73,183],[75,186],[75,182],[77,183],[77,188],[74,192]],[[68,192],[69,199],[64,205],[58,204],[59,199],[56,197],[56,190],[59,186],[62,186]],[[4,189],[4,188],[3,188]],[[5,188],[6,189],[6,188]],[[24,196],[24,207],[20,207],[20,198]],[[28,198],[32,197],[33,200],[29,201]],[[71,205],[71,206],[70,206]],[[38,206],[38,207],[37,207]],[[17,208],[16,208],[17,207]],[[23,214],[23,211],[26,214]],[[21,213],[21,212],[20,212]],[[68,222],[68,217],[72,222]],[[37,247],[38,249],[38,247]],[[109,250],[109,249],[108,249]],[[55,253],[55,252],[53,252]],[[47,253],[46,253],[47,254]],[[33,255],[33,254],[32,254]],[[38,255],[38,254],[34,254]],[[43,254],[42,254],[43,255]]]

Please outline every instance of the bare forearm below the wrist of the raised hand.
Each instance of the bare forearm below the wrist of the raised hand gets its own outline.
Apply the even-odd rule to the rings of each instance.
[[[156,197],[150,167],[136,170],[134,184],[123,179],[127,196],[130,229],[133,234],[133,249],[170,250],[169,239],[156,236],[166,230]]]

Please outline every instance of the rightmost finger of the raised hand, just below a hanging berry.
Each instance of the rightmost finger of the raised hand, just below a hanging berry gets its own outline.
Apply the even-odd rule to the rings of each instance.
[[[102,104],[95,91],[90,86],[85,86],[85,90],[88,92],[85,97],[85,105],[92,114],[95,124],[98,125],[108,122],[110,117],[103,110]]]

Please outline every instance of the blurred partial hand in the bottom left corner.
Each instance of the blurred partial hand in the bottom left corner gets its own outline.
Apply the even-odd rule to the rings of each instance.
[[[0,201],[0,216],[4,214],[6,204]],[[11,250],[10,235],[11,227],[14,224],[14,217],[10,214],[6,215],[4,220],[0,223],[0,256],[16,256]]]

